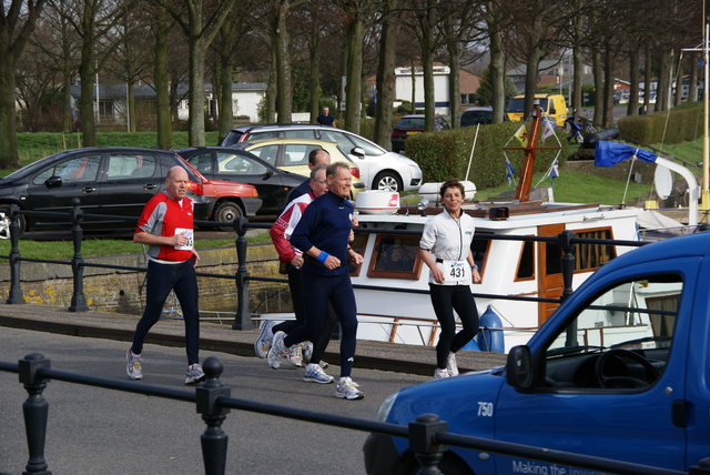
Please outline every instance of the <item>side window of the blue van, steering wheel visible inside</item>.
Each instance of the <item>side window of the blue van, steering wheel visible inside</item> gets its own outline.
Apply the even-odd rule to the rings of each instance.
[[[545,378],[551,390],[643,391],[663,374],[673,343],[683,282],[678,274],[616,283],[550,343]]]

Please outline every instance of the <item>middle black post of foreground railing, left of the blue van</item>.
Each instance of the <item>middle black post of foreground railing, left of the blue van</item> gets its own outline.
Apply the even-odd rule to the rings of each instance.
[[[224,365],[220,358],[210,356],[202,364],[207,380],[195,390],[197,414],[207,424],[207,428],[200,436],[202,443],[202,458],[206,475],[224,475],[226,471],[226,447],[229,436],[222,431],[222,423],[230,413],[227,407],[217,404],[217,397],[230,397],[231,390],[220,381]]]

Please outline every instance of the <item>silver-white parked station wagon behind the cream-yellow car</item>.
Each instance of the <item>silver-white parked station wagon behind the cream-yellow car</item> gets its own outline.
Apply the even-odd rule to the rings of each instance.
[[[304,123],[243,125],[232,129],[222,142],[230,146],[257,139],[301,138],[336,142],[357,163],[367,189],[417,191],[422,185],[422,169],[412,159],[389,152],[376,143],[346,130]],[[363,153],[355,153],[355,149]]]

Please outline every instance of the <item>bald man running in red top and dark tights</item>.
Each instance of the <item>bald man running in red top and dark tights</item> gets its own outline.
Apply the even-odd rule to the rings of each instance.
[[[126,373],[141,380],[142,351],[145,336],[158,323],[171,290],[180,301],[185,322],[187,373],[185,384],[205,380],[200,366],[200,313],[197,307],[197,279],[195,266],[200,255],[194,249],[193,202],[187,198],[190,180],[180,165],[171,168],[165,190],[153,196],[138,220],[133,242],[146,244],[148,262],[145,310],[138,322],[133,344],[126,353]]]

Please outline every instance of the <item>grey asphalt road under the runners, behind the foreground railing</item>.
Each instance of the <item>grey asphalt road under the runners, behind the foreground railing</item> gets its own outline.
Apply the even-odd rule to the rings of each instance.
[[[52,368],[128,381],[123,342],[0,329],[0,361],[17,362],[39,352]],[[146,345],[144,380],[185,388],[181,347]],[[202,352],[224,363],[222,381],[232,397],[372,420],[383,400],[427,376],[356,368],[362,401],[334,397],[335,386],[304,383],[302,370],[271,370],[264,360]],[[337,375],[337,367],[328,368]],[[205,425],[191,403],[50,382],[45,459],[55,474],[203,474],[200,435]],[[0,475],[20,474],[28,459],[21,406],[27,398],[14,373],[0,372]],[[223,424],[229,435],[229,474],[270,472],[364,473],[365,433],[233,411]]]

